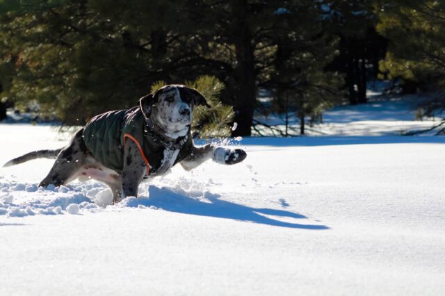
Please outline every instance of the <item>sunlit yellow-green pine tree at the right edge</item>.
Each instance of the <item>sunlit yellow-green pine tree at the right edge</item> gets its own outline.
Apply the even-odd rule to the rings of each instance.
[[[426,115],[445,110],[445,2],[380,1],[378,10],[378,31],[391,40],[382,71],[437,92],[423,106]]]

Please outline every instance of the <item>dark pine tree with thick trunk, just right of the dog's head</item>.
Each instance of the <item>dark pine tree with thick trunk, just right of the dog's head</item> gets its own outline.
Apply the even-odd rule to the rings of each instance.
[[[320,39],[321,32],[321,10],[314,1],[207,0],[192,1],[192,5],[192,19],[198,28],[194,40],[200,49],[196,55],[227,87],[225,97],[229,99],[225,101],[234,106],[238,124],[233,135],[250,135],[258,88],[274,88],[272,76],[277,71],[280,42],[292,40],[292,51],[297,55],[310,56],[318,47],[332,49],[329,44],[312,41]],[[324,62],[305,70],[323,72],[321,65]],[[335,83],[331,86],[336,88]]]

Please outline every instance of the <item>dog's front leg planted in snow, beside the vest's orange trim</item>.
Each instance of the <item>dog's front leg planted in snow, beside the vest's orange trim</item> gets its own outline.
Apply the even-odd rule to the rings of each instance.
[[[128,140],[124,147],[124,165],[122,170],[122,198],[138,196],[138,187],[147,170],[136,144]]]

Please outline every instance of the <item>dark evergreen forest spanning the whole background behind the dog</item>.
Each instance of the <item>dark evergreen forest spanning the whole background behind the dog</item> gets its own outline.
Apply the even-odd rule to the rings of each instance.
[[[80,125],[135,106],[159,81],[204,75],[223,83],[234,116],[221,122],[236,122],[235,136],[250,135],[255,112],[293,113],[304,133],[334,104],[366,104],[375,79],[439,94],[428,115],[445,109],[445,3],[0,0],[0,120],[32,105]]]

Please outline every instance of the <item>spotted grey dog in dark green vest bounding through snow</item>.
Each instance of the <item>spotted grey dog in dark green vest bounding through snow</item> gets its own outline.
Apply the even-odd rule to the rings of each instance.
[[[242,149],[193,145],[195,106],[210,108],[197,90],[166,85],[142,97],[139,106],[93,117],[67,147],[33,151],[4,166],[34,158],[56,158],[39,186],[96,179],[109,186],[113,202],[119,202],[137,196],[143,179],[162,175],[177,163],[192,170],[209,158],[225,165],[243,161],[246,154]]]

